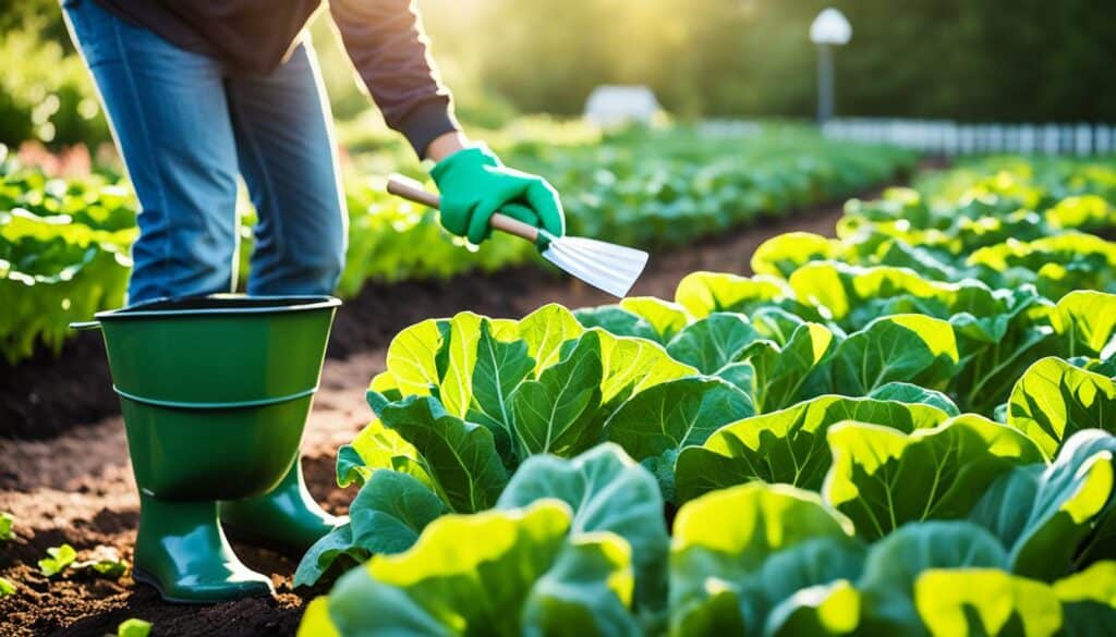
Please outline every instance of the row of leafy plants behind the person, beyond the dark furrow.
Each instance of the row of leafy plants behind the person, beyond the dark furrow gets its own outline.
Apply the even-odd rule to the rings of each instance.
[[[567,195],[573,232],[645,245],[683,243],[761,214],[847,195],[912,161],[903,151],[845,147],[796,128],[724,144],[682,128],[599,138],[551,127],[568,143],[513,143],[509,161],[552,176]],[[587,176],[583,166],[590,160],[594,174]],[[343,297],[357,295],[369,280],[446,278],[536,261],[532,247],[514,239],[498,237],[478,250],[451,237],[435,211],[391,197],[379,180],[352,177],[346,195],[349,247],[337,290]],[[123,305],[136,211],[126,182],[110,172],[47,178],[20,167],[15,156],[0,162],[0,307],[9,308],[0,315],[0,347],[9,363],[39,347],[58,351],[68,322]],[[239,272],[246,277],[254,213],[243,197],[240,218]]]

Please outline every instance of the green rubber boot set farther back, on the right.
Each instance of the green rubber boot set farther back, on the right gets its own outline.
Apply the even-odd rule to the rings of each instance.
[[[237,539],[262,543],[301,557],[335,528],[346,522],[326,513],[306,489],[302,463],[287,471],[270,492],[244,500],[222,501],[221,523]]]

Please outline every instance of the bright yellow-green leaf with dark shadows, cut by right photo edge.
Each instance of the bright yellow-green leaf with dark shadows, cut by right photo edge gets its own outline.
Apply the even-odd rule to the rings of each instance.
[[[1116,432],[1116,382],[1059,358],[1043,358],[1011,390],[1008,424],[1054,457],[1074,432]]]

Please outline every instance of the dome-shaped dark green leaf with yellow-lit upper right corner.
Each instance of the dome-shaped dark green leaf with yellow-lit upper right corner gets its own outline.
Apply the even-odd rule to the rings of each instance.
[[[884,317],[839,342],[807,390],[866,396],[894,382],[943,388],[958,361],[949,322],[922,315]]]

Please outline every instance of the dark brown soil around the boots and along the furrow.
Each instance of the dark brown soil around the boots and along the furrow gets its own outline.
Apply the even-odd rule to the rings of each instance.
[[[840,206],[818,207],[656,254],[633,293],[671,298],[679,280],[694,270],[749,273],[749,259],[762,241],[796,230],[831,234],[839,215]],[[331,512],[346,511],[353,492],[336,485],[336,448],[371,418],[364,389],[383,369],[386,344],[396,331],[463,309],[514,317],[551,301],[580,307],[610,299],[576,281],[520,268],[443,283],[369,286],[346,303],[302,445],[314,495]],[[275,598],[174,606],[127,577],[48,580],[38,573],[37,560],[64,542],[79,552],[108,546],[128,561],[132,557],[138,498],[103,353],[97,335],[89,336],[94,339],[75,340],[57,361],[38,358],[2,371],[0,511],[15,515],[17,538],[0,543],[0,577],[18,590],[0,599],[0,636],[102,637],[133,617],[153,621],[155,636],[294,635],[314,592],[291,590],[296,561],[247,544],[233,543],[248,566],[270,575]],[[59,432],[67,435],[46,440]]]

